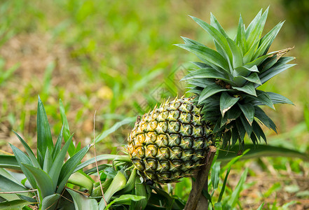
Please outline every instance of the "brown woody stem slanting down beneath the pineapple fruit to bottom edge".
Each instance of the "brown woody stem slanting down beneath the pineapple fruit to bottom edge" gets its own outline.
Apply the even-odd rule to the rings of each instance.
[[[208,209],[208,200],[202,196],[202,190],[208,190],[208,174],[210,173],[210,167],[212,166],[216,151],[217,148],[214,146],[209,147],[209,151],[205,156],[205,164],[202,165],[195,177],[195,181],[192,183],[192,190],[188,196],[188,202],[186,202],[184,210]]]

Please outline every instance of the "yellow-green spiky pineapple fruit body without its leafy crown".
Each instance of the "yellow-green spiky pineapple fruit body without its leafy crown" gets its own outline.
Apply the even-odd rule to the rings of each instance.
[[[195,174],[212,139],[201,107],[191,98],[174,99],[137,118],[128,153],[145,181],[171,183]]]

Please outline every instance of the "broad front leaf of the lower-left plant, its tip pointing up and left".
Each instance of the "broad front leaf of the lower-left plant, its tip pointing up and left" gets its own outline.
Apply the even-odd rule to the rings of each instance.
[[[36,185],[39,190],[39,198],[42,202],[43,198],[48,195],[53,195],[55,192],[53,190],[53,181],[50,179],[48,174],[44,172],[42,169],[33,167],[32,165],[22,164],[25,166],[29,172],[32,173],[34,179],[36,180]]]

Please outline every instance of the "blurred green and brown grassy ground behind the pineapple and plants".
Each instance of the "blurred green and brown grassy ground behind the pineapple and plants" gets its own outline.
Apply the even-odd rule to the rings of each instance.
[[[279,105],[277,111],[265,108],[279,131],[278,135],[267,132],[268,141],[308,152],[309,1],[306,0],[3,0],[0,148],[10,151],[7,142],[18,144],[11,130],[22,134],[30,145],[35,144],[38,95],[54,130],[62,126],[56,123],[60,122],[57,107],[62,99],[70,130],[75,133],[74,141],[85,145],[93,139],[95,111],[95,131],[99,134],[118,121],[149,111],[164,98],[184,94],[184,83],[179,80],[190,68],[189,62],[197,58],[173,44],[181,43],[180,36],[186,36],[213,46],[210,37],[188,15],[209,22],[212,12],[228,34],[235,34],[240,13],[248,24],[261,8],[268,6],[265,31],[286,20],[270,50],[294,46],[289,56],[297,57],[298,64],[263,87],[289,97],[296,105]],[[126,144],[131,127],[132,124],[124,125],[104,139],[97,151],[115,153],[115,147]],[[289,168],[308,176],[308,171],[303,170],[308,165],[301,160],[261,159],[257,164],[268,173],[283,170],[284,174]],[[256,172],[250,173],[254,176]]]

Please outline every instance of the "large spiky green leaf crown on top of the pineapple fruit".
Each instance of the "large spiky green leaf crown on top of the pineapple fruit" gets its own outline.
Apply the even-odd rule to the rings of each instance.
[[[284,22],[262,36],[267,15],[268,8],[264,13],[260,10],[247,28],[240,15],[234,39],[228,37],[214,15],[210,15],[210,24],[191,17],[212,37],[216,50],[185,37],[181,37],[184,44],[177,44],[202,61],[193,62],[198,68],[182,80],[191,85],[188,92],[197,95],[195,103],[203,107],[203,118],[212,123],[214,134],[223,137],[223,146],[231,141],[243,146],[246,133],[254,144],[261,139],[266,141],[259,123],[275,132],[277,128],[259,106],[275,109],[274,104],[293,104],[280,94],[256,90],[295,65],[287,64],[295,57],[283,57],[292,48],[268,52]]]

